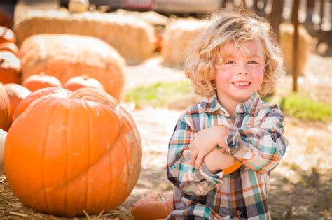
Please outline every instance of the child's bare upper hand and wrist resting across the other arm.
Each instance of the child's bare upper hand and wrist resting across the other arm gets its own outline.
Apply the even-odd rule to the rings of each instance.
[[[193,142],[191,142],[191,166],[200,168],[204,156],[216,148],[226,147],[225,138],[228,135],[226,126],[214,126],[209,129],[203,129],[198,132]]]

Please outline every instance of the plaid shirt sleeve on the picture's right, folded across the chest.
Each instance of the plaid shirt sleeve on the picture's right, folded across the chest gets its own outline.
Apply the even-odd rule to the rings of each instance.
[[[254,127],[228,126],[226,143],[230,154],[251,170],[269,172],[279,164],[288,145],[283,134],[283,120],[284,115],[275,107]]]

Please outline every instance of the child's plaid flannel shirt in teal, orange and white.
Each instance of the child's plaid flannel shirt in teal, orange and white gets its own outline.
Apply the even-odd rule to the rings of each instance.
[[[221,106],[216,94],[188,108],[179,118],[167,156],[168,179],[174,184],[174,207],[167,219],[270,219],[270,171],[286,151],[284,116],[278,106],[257,94],[237,105],[236,118]],[[228,126],[228,153],[242,163],[223,176],[205,163],[190,165],[190,143],[198,131]],[[189,154],[188,154],[189,152]]]

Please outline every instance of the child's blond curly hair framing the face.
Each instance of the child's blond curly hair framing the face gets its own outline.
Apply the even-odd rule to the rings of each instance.
[[[261,42],[265,55],[264,78],[258,94],[265,96],[274,91],[278,78],[284,75],[284,67],[282,52],[272,31],[268,31],[268,22],[243,12],[220,11],[216,15],[219,18],[188,47],[185,73],[195,93],[205,97],[214,94],[215,66],[223,59],[223,48],[228,43],[246,52],[242,45],[252,40]]]

